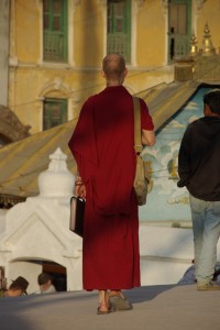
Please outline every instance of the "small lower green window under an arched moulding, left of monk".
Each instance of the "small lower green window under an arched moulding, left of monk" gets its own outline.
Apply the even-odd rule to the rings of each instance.
[[[43,109],[43,130],[67,122],[67,100],[45,99]]]

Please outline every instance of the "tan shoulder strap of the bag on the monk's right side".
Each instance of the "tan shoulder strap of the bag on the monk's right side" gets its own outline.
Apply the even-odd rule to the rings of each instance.
[[[133,107],[134,107],[134,148],[135,153],[141,153],[143,150],[141,143],[141,109],[140,109],[140,100],[138,97],[133,98]]]

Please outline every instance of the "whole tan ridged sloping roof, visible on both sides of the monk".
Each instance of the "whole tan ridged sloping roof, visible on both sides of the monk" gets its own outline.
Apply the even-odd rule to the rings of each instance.
[[[199,84],[173,82],[144,90],[136,96],[148,105],[155,129],[158,130],[197,90]],[[0,148],[0,194],[21,197],[38,194],[38,174],[48,167],[50,155],[57,147],[67,155],[67,166],[75,172],[68,148],[76,120],[40,132]]]

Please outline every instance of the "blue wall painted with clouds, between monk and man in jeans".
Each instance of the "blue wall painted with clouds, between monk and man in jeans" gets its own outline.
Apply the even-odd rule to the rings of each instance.
[[[139,208],[141,221],[190,221],[188,191],[177,187],[178,150],[188,123],[204,116],[202,96],[210,89],[199,88],[157,132],[156,144],[144,148],[152,174],[147,204]]]

